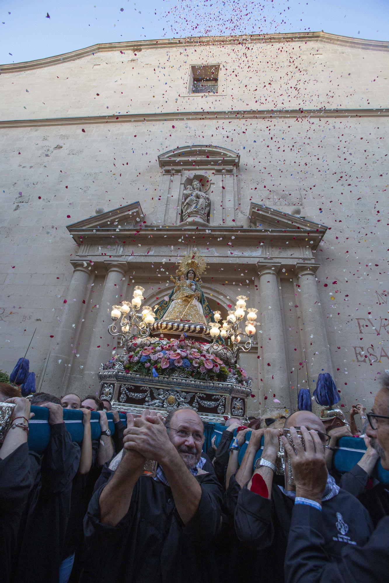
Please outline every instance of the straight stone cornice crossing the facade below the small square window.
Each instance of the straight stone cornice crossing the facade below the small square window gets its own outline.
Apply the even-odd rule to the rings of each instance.
[[[371,109],[300,109],[300,110],[228,110],[228,111],[171,111],[167,113],[138,113],[120,115],[87,115],[83,117],[52,117],[33,120],[0,121],[0,129],[34,128],[58,125],[127,124],[145,121],[193,120],[267,120],[306,118],[371,118],[388,117],[389,108]]]

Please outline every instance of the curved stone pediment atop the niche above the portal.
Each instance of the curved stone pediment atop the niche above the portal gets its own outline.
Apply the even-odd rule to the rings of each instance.
[[[234,150],[206,145],[177,147],[158,156],[159,166],[164,170],[220,168],[232,171],[234,168],[237,171],[239,159],[239,154]]]

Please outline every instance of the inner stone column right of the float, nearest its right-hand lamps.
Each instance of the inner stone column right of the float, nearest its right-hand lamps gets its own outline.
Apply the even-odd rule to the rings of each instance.
[[[261,296],[261,325],[263,346],[263,380],[266,409],[290,409],[289,380],[286,366],[284,332],[281,317],[277,272],[280,264],[258,265]],[[259,340],[259,339],[258,339]],[[273,394],[280,403],[273,401]],[[261,399],[262,401],[262,399]]]

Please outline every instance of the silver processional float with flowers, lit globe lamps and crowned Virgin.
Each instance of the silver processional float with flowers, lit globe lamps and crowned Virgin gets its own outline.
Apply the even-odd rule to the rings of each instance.
[[[166,414],[184,405],[208,422],[246,419],[251,380],[238,357],[252,347],[257,310],[246,309],[247,298],[238,296],[235,309],[220,324],[220,311],[211,310],[201,287],[206,268],[197,252],[186,255],[171,278],[171,294],[154,310],[142,307],[141,286],[135,287],[131,301],[112,306],[109,332],[119,336],[121,352],[101,365],[98,377],[99,396],[113,408]],[[244,335],[248,339],[243,344]]]

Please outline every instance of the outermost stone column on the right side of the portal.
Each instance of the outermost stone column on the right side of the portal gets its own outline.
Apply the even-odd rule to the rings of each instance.
[[[310,375],[311,387],[317,381],[319,373],[329,373],[334,376],[331,354],[327,339],[325,320],[321,309],[316,276],[319,265],[297,264],[296,273],[300,285],[301,314],[303,315],[303,331],[305,341],[305,356]],[[315,388],[313,383],[312,390]]]

